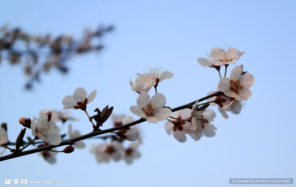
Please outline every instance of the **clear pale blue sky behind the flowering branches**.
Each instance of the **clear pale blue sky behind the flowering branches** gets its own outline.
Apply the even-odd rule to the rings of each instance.
[[[114,114],[139,119],[129,111],[138,94],[128,80],[148,67],[174,73],[157,87],[166,106],[204,97],[216,89],[219,76],[212,68],[202,68],[197,58],[205,58],[215,46],[229,44],[245,51],[237,65],[243,64],[255,83],[239,115],[229,114],[226,120],[212,107],[217,114],[215,137],[197,142],[188,137],[180,143],[166,134],[165,122],[144,122],[137,125],[143,133],[141,158],[132,165],[123,160],[96,163],[90,144],[101,140],[84,140],[85,149],[59,153],[55,165],[37,154],[1,162],[0,184],[5,178],[28,178],[60,180],[59,186],[229,186],[229,178],[296,178],[295,5],[295,1],[1,1],[0,24],[32,34],[81,37],[85,27],[115,25],[103,38],[102,53],[72,58],[68,75],[56,70],[44,74],[32,92],[23,89],[27,79],[22,67],[2,60],[0,122],[7,122],[10,141],[22,128],[20,116],[32,119],[42,109],[61,110],[62,99],[77,87],[98,91],[87,106],[90,115],[109,104]],[[226,76],[232,68],[229,65]],[[91,132],[84,112],[71,111],[80,119],[72,123],[73,129]],[[110,127],[111,119],[102,129]]]

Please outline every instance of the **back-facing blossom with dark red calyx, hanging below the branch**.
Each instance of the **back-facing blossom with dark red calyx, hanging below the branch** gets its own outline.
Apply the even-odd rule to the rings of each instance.
[[[190,118],[190,109],[182,109],[176,112],[173,112],[171,117],[178,118],[178,119],[188,119]],[[173,136],[178,140],[179,142],[183,143],[186,142],[186,135],[185,134],[193,134],[192,130],[190,129],[192,127],[192,124],[188,121],[182,121],[182,120],[176,120],[176,119],[170,119],[172,122],[167,121],[165,122],[165,131],[168,133],[168,135],[173,133]]]

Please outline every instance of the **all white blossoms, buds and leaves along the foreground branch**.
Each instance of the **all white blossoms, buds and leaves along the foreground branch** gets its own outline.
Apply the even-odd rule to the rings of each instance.
[[[140,157],[138,151],[139,145],[141,145],[141,137],[139,130],[136,127],[132,127],[140,122],[147,121],[149,123],[159,123],[165,121],[165,132],[179,142],[186,142],[187,136],[190,136],[193,140],[200,140],[201,137],[214,137],[217,128],[212,124],[216,117],[215,111],[207,109],[209,106],[218,105],[218,111],[221,115],[228,119],[226,111],[231,111],[232,114],[239,114],[241,109],[244,107],[244,101],[252,96],[250,87],[254,83],[254,76],[250,73],[243,71],[242,65],[235,66],[230,77],[226,77],[226,70],[229,64],[237,64],[235,61],[238,60],[244,52],[240,52],[235,48],[227,46],[226,50],[222,50],[219,47],[213,47],[209,58],[198,58],[197,61],[202,67],[215,68],[219,72],[220,81],[216,91],[209,92],[207,97],[202,98],[192,103],[171,109],[166,104],[166,98],[164,94],[157,93],[157,86],[161,81],[170,79],[173,77],[173,73],[168,70],[150,69],[148,73],[137,73],[135,82],[129,79],[131,90],[138,93],[139,96],[136,98],[135,106],[130,107],[131,113],[140,117],[141,119],[134,121],[132,116],[112,115],[113,128],[108,129],[108,132],[113,133],[112,135],[98,137],[104,140],[104,143],[99,145],[92,145],[91,153],[95,155],[98,163],[109,163],[110,160],[119,161],[125,160],[126,163],[131,164],[134,159]],[[221,66],[225,66],[225,75],[222,78],[220,69]],[[150,97],[148,92],[152,86],[155,88],[154,96]],[[89,121],[93,127],[93,133],[100,132],[104,122],[111,116],[113,107],[107,105],[104,109],[99,110],[96,108],[94,112],[97,114],[89,116],[87,113],[87,104],[91,103],[97,95],[97,91],[92,91],[89,95],[83,88],[76,88],[73,95],[65,96],[62,99],[63,109],[81,109],[88,116]],[[200,103],[207,99],[207,102]],[[193,105],[193,106],[192,106]],[[173,113],[172,113],[173,111]],[[56,110],[45,110],[41,111],[38,119],[31,121],[28,117],[20,117],[19,122],[24,127],[31,129],[32,140],[28,145],[33,143],[35,140],[43,140],[44,144],[38,145],[37,147],[43,147],[46,145],[59,145],[62,142],[62,136],[59,134],[60,129],[56,125],[56,122],[61,121],[64,124],[68,120],[76,121],[75,118],[71,117],[67,112],[56,111]],[[0,145],[6,147],[5,144],[8,142],[6,125],[0,127]],[[26,129],[25,128],[25,129]],[[16,141],[16,149],[10,149],[11,152],[17,154],[21,152],[25,147],[22,138],[25,134],[25,129],[21,131]],[[106,133],[108,133],[106,132]],[[68,137],[75,144],[65,147],[63,151],[57,151],[54,149],[44,150],[40,154],[49,163],[55,163],[54,158],[57,152],[71,153],[75,147],[82,149],[86,147],[86,144],[82,141],[85,138],[81,137],[78,130],[72,130],[72,125],[68,125]],[[89,133],[91,134],[91,133]],[[104,133],[102,133],[104,134]],[[186,135],[187,134],[187,135]],[[96,134],[97,135],[97,134]],[[89,136],[92,137],[92,136]],[[110,140],[110,141],[108,141]],[[124,142],[132,142],[128,146],[124,146]],[[70,143],[71,144],[71,143]],[[126,147],[126,148],[125,148]]]

